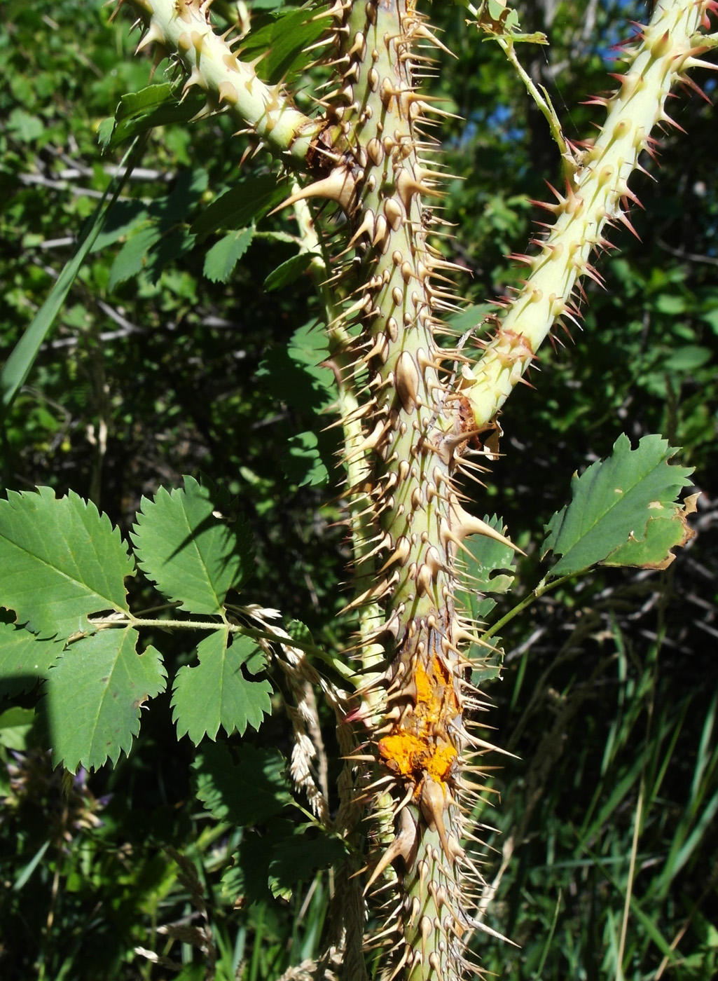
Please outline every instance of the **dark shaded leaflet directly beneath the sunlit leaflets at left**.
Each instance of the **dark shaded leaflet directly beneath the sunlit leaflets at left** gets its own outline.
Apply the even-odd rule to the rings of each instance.
[[[218,821],[237,827],[259,824],[292,802],[278,749],[242,746],[232,762],[224,745],[207,746],[192,764],[197,797]]]

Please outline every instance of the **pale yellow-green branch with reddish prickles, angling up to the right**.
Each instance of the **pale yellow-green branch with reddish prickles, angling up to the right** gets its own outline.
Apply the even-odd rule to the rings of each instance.
[[[608,245],[606,226],[621,223],[633,232],[627,211],[638,200],[629,178],[641,170],[641,152],[654,152],[652,130],[673,125],[665,108],[671,89],[677,82],[692,84],[686,75],[692,68],[715,68],[700,60],[708,45],[698,31],[716,10],[715,0],[658,0],[650,24],[624,51],[628,67],[618,77],[618,91],[590,100],[606,107],[606,122],[595,140],[574,148],[563,192],[554,191],[555,200],[541,205],[555,223],[535,240],[537,255],[518,257],[530,270],[526,283],[474,372],[465,372],[463,390],[476,425],[493,419],[555,321],[580,315],[579,281],[588,276],[601,282],[590,258]]]

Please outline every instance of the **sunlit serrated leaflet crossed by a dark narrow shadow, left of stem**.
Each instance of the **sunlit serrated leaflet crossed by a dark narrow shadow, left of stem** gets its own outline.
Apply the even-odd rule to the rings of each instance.
[[[145,575],[192,613],[221,613],[227,591],[253,567],[244,522],[232,529],[213,511],[211,491],[185,477],[184,490],[160,488],[153,501],[142,498],[131,533]]]

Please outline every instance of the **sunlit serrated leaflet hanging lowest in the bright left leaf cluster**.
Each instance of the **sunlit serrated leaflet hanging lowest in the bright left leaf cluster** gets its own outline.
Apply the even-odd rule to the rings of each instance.
[[[137,654],[137,641],[132,628],[98,631],[70,645],[48,671],[40,711],[55,765],[75,773],[129,752],[142,704],[166,684],[160,652]]]

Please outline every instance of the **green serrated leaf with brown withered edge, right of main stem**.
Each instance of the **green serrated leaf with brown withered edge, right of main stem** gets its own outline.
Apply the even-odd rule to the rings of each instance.
[[[646,436],[635,450],[620,436],[608,459],[591,464],[571,482],[573,499],[553,515],[543,542],[562,558],[549,575],[565,576],[607,565],[664,568],[670,548],[688,540],[685,516],[676,502],[691,484],[692,469],[669,466],[676,450],[659,436]]]

